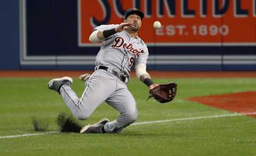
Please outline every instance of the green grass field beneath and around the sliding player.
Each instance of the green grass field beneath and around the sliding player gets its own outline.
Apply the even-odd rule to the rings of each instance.
[[[0,136],[35,132],[34,117],[49,123],[46,132],[57,131],[60,111],[69,112],[61,97],[47,89],[49,79],[0,79]],[[167,79],[155,79],[157,83]],[[137,101],[138,122],[228,115],[233,112],[205,106],[186,98],[256,90],[255,79],[172,79],[177,97],[167,105],[149,99],[147,86],[137,79],[129,89]],[[82,95],[84,84],[74,80]],[[118,112],[103,103],[79,123],[92,124]],[[131,125],[119,134],[57,133],[0,138],[0,155],[256,155],[256,120],[231,116]]]

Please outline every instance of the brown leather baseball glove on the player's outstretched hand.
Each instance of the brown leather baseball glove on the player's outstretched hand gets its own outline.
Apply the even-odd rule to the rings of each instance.
[[[154,97],[158,102],[166,103],[175,98],[177,92],[177,84],[174,82],[159,84],[153,89],[149,90],[149,98]]]

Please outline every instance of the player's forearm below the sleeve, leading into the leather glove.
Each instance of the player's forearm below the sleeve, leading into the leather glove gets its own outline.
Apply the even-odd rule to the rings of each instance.
[[[155,84],[153,80],[151,79],[150,75],[148,74],[146,70],[146,64],[139,63],[135,65],[135,72],[138,79],[145,83],[147,86],[149,86],[149,89],[155,88],[158,84]]]

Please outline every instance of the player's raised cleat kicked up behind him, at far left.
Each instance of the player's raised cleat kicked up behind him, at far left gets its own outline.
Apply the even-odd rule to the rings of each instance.
[[[62,85],[69,85],[73,83],[73,80],[71,77],[65,76],[58,79],[52,79],[48,82],[48,88],[51,90],[55,90],[60,94],[60,87]]]

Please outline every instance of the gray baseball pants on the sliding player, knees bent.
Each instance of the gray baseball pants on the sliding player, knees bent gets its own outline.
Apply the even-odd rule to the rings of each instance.
[[[118,133],[137,120],[136,102],[127,85],[119,78],[105,70],[95,71],[85,82],[85,90],[81,98],[68,85],[62,85],[60,94],[77,119],[87,119],[93,111],[106,101],[108,105],[119,111],[120,116],[105,124],[109,133]]]

